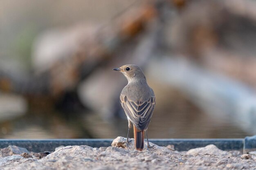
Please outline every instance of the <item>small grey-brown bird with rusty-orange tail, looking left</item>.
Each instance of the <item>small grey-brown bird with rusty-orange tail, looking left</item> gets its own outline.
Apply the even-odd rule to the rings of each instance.
[[[147,130],[155,108],[154,91],[148,86],[146,77],[139,66],[126,64],[119,68],[113,68],[113,70],[123,73],[128,80],[128,84],[120,95],[120,103],[128,119],[126,146],[128,147],[130,128],[133,125],[135,149],[140,151],[144,149],[144,131],[147,147],[150,148]]]

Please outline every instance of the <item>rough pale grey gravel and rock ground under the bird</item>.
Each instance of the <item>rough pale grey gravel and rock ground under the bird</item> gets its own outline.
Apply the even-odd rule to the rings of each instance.
[[[33,153],[25,148],[9,146],[1,149],[1,170],[256,170],[256,155],[239,151],[223,151],[214,145],[187,152],[173,146],[150,144],[143,151],[134,150],[133,139],[128,148],[126,138],[117,137],[110,147],[66,146],[53,153]],[[10,155],[10,156],[8,156]]]

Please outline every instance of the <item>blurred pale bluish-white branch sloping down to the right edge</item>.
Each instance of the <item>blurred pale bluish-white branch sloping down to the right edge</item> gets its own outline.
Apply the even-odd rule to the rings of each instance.
[[[155,60],[150,74],[156,81],[179,89],[205,113],[226,117],[252,134],[256,133],[256,92],[241,82],[208,71],[178,58]]]

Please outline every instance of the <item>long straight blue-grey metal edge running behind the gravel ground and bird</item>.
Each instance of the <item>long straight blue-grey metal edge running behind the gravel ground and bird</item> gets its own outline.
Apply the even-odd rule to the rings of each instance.
[[[111,146],[113,139],[0,139],[0,148],[16,145],[33,152],[54,151],[58,146],[88,145],[93,148]],[[221,150],[239,150],[243,152],[245,139],[149,139],[158,146],[174,145],[175,150],[216,145]]]

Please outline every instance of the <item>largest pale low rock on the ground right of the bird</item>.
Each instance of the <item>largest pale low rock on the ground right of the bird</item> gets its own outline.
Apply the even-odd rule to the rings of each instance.
[[[231,153],[224,151],[224,150],[220,150],[219,148],[217,148],[217,146],[211,144],[211,145],[207,145],[205,147],[202,148],[195,148],[195,149],[191,149],[188,152],[186,152],[186,154],[189,155],[195,155],[195,154],[200,154],[200,155],[204,155],[204,154],[209,154],[209,155],[225,155],[225,156],[231,156]]]

